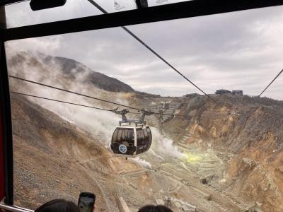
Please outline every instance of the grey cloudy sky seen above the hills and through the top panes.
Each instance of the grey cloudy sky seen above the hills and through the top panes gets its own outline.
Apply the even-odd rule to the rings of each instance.
[[[121,10],[134,1],[115,0]],[[115,1],[97,0],[109,12]],[[149,5],[173,3],[150,0]],[[31,11],[29,2],[6,6],[8,27],[100,14],[87,0]],[[283,69],[283,6],[128,26],[207,93],[225,88],[258,95]],[[125,33],[110,28],[8,42],[16,51],[40,51],[76,59],[135,90],[161,95],[200,93]],[[264,94],[283,100],[283,75]]]

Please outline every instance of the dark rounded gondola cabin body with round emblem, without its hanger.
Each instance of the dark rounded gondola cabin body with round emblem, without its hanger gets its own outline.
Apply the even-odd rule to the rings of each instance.
[[[151,147],[151,141],[149,126],[118,126],[112,135],[110,147],[115,156],[134,158],[136,155],[148,151]]]

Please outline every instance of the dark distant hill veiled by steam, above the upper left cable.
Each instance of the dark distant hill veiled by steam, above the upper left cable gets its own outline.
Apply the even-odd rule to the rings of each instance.
[[[19,52],[9,57],[8,69],[10,73],[22,77],[24,75],[34,78],[33,74],[35,74],[39,75],[40,78],[59,77],[58,81],[67,80],[71,82],[76,79],[78,83],[94,86],[102,90],[134,93],[134,89],[126,83],[93,71],[74,59],[64,57]]]

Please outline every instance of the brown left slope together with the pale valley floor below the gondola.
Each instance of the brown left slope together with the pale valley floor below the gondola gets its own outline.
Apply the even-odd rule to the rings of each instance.
[[[114,158],[86,131],[30,100],[12,95],[11,105],[18,206],[36,208],[56,198],[76,202],[79,193],[87,191],[96,194],[98,211],[125,211],[125,205],[137,211],[168,196],[176,212],[182,208],[195,211],[195,207],[199,211],[238,211],[233,200],[203,187],[184,168],[185,160],[180,163],[178,158],[152,152],[144,155],[151,162],[149,167],[144,160]]]

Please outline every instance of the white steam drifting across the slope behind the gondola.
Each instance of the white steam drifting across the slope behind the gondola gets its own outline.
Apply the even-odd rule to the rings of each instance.
[[[12,56],[10,55],[10,57]],[[14,54],[13,57],[20,61],[16,61],[8,65],[8,71],[11,75],[42,82],[50,86],[72,90],[74,92],[83,93],[96,98],[102,98],[118,102],[120,104],[129,105],[127,98],[125,97],[125,93],[108,92],[96,88],[90,83],[84,83],[85,78],[88,77],[88,71],[91,71],[86,66],[81,66],[79,64],[73,70],[70,70],[69,73],[64,73],[62,66],[60,66],[57,61],[50,61],[50,66],[46,66],[45,63],[42,63],[41,59],[44,59],[44,55],[42,56],[38,54],[34,56],[31,53],[21,52],[21,54],[18,55]],[[83,69],[84,71],[77,71],[78,69]],[[73,75],[74,78],[71,78],[71,75]],[[30,93],[45,98],[64,100],[66,102],[74,102],[93,107],[102,107],[110,110],[116,107],[115,105],[110,105],[105,102],[84,98],[71,93],[65,93],[52,88],[45,88],[31,83],[23,83],[16,79],[11,79],[10,84],[11,90],[21,93]],[[105,146],[109,146],[112,132],[115,130],[115,126],[117,126],[120,120],[119,115],[103,110],[94,110],[91,108],[67,105],[60,102],[36,98],[30,98],[30,100],[33,100],[42,107],[47,108],[47,110],[58,114],[60,117],[75,124],[80,129],[88,131],[88,133],[92,134],[98,141],[105,143]],[[181,153],[178,150],[178,147],[173,145],[173,141],[171,139],[162,136],[154,127],[151,127],[151,131],[153,136],[151,149],[155,155],[158,155],[159,158],[185,157],[185,154]],[[136,162],[140,165],[151,167],[151,165],[145,160],[137,159]]]

